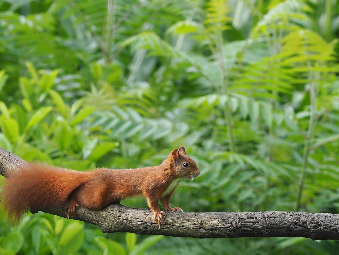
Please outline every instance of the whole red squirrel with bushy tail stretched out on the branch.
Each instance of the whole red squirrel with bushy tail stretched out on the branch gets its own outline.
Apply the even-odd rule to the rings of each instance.
[[[79,172],[44,164],[29,163],[13,169],[0,193],[8,216],[20,220],[30,208],[65,206],[67,217],[76,216],[76,206],[100,210],[110,203],[143,194],[158,225],[167,211],[183,212],[169,205],[180,179],[192,180],[200,174],[184,147],[175,148],[159,166],[136,169],[105,169]]]

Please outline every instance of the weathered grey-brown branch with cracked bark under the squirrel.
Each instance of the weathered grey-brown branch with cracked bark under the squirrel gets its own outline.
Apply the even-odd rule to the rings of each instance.
[[[8,177],[11,169],[26,162],[0,148],[0,174]],[[42,212],[67,217],[63,208],[39,208]],[[313,240],[339,239],[339,215],[302,212],[166,212],[161,227],[153,223],[149,209],[112,204],[101,211],[77,208],[71,217],[101,227],[104,233],[132,232],[177,237],[274,237],[295,236]]]

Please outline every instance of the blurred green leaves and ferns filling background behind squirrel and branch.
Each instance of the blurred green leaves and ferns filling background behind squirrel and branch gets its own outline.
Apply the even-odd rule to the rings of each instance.
[[[201,171],[171,199],[184,211],[339,213],[338,7],[0,0],[0,147],[86,170],[157,165],[183,145]],[[339,242],[107,235],[1,213],[0,254],[339,254]]]

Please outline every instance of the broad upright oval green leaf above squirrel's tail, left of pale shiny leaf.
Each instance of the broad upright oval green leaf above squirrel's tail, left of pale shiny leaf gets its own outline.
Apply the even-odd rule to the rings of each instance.
[[[54,128],[53,141],[60,151],[66,150],[72,142],[73,130],[66,121],[58,122]]]

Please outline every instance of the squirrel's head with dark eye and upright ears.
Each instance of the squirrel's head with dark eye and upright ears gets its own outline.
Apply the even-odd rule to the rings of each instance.
[[[179,150],[175,148],[172,153],[167,156],[167,159],[171,163],[171,169],[175,172],[177,178],[192,180],[200,174],[197,164],[186,155],[183,146],[181,146]]]

